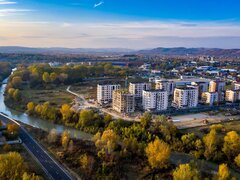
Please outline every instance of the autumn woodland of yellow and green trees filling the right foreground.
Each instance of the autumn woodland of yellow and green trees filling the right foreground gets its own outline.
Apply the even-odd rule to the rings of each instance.
[[[65,118],[69,115],[65,114]],[[127,165],[144,172],[140,173],[145,175],[139,179],[234,179],[230,167],[240,168],[240,136],[235,131],[225,132],[222,125],[212,125],[209,132],[199,137],[194,133],[181,133],[165,116],[154,118],[145,113],[140,123],[113,120],[110,115],[102,115],[100,119],[97,116],[91,110],[79,114],[79,127],[98,131],[93,138],[96,149],[84,151],[77,158],[79,161],[71,158],[76,158],[74,153],[79,151],[67,131],[60,141],[54,130],[47,137],[50,144],[61,144],[61,156],[66,161],[74,161],[74,167],[79,164],[84,177],[126,178],[123,169]],[[193,161],[178,165],[171,157],[174,152],[190,154]],[[206,170],[197,160],[220,164],[218,172]]]

